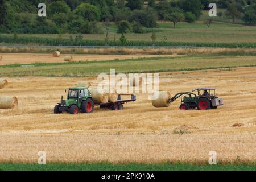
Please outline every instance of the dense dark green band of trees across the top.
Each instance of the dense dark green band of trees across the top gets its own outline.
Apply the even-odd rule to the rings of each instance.
[[[47,17],[37,14],[40,2],[46,3]],[[102,34],[105,30],[98,23],[102,22],[108,34],[114,22],[118,33],[144,33],[157,28],[158,20],[170,21],[174,27],[181,21],[192,23],[211,2],[226,9],[233,22],[256,23],[256,0],[0,0],[0,32]]]

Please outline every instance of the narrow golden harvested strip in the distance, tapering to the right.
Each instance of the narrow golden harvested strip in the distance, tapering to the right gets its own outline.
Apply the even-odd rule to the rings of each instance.
[[[60,57],[53,57],[51,53],[1,53],[3,59],[0,65],[6,64],[30,64],[30,63],[61,63],[64,62],[65,54]],[[102,61],[114,59],[131,59],[139,57],[174,57],[181,55],[71,55],[73,61]]]

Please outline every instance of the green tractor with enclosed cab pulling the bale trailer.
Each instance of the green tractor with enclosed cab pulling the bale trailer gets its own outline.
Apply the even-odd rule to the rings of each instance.
[[[60,103],[54,107],[55,114],[64,111],[70,114],[78,114],[80,110],[82,113],[92,113],[94,110],[92,94],[86,87],[70,88],[67,100],[63,100],[63,96],[61,96]]]

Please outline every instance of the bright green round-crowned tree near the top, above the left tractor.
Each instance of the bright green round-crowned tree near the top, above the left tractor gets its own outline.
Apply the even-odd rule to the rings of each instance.
[[[81,3],[76,7],[73,13],[85,20],[94,21],[100,20],[101,10],[99,7],[89,3]]]

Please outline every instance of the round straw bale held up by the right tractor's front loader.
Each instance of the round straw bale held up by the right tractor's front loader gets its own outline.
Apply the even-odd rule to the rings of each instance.
[[[171,105],[168,100],[171,98],[171,94],[168,91],[158,92],[158,98],[151,100],[154,107],[169,107]]]

